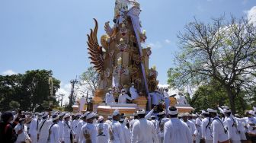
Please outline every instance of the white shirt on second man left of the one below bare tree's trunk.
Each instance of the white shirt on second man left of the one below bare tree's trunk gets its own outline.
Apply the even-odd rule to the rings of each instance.
[[[210,119],[210,123],[209,123],[209,117],[206,117],[202,120],[202,126],[201,126],[202,138],[205,138],[206,140],[213,140],[212,131],[210,129],[211,122],[212,122],[212,119]]]

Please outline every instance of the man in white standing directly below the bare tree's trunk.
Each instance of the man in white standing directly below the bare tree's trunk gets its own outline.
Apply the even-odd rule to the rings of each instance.
[[[232,141],[232,143],[241,143],[237,120],[232,116],[231,110],[224,109],[223,111],[226,116],[226,120],[223,123],[228,130],[229,141]]]

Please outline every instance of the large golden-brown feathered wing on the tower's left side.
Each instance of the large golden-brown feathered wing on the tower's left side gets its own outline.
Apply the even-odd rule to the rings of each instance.
[[[103,51],[102,46],[98,44],[98,21],[94,19],[95,27],[94,30],[91,29],[90,35],[87,34],[88,37],[88,54],[89,59],[91,59],[91,64],[93,64],[96,71],[99,73],[104,71],[104,59],[103,59]]]

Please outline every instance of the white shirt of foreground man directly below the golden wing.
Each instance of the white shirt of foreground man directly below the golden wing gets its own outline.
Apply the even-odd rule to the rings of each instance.
[[[91,143],[98,143],[97,129],[96,129],[96,126],[94,126],[94,124],[86,123],[85,126],[83,126],[81,133],[82,133],[82,140],[79,139],[78,143],[86,143],[85,134],[90,135]]]

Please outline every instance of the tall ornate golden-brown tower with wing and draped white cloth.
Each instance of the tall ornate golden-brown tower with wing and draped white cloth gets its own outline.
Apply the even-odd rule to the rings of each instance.
[[[128,90],[134,82],[140,95],[138,100],[143,100],[144,104],[149,92],[155,91],[158,85],[157,71],[155,68],[149,69],[151,49],[141,45],[145,43],[146,31],[141,30],[140,11],[136,1],[116,0],[114,26],[110,27],[109,21],[105,23],[106,34],[101,37],[102,46],[98,43],[98,22],[94,19],[94,30],[88,35],[88,54],[100,75],[99,87],[93,99],[96,106],[102,103],[109,87],[114,89],[117,96],[122,88]]]

